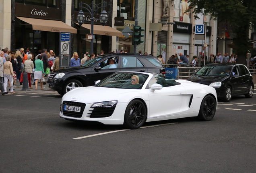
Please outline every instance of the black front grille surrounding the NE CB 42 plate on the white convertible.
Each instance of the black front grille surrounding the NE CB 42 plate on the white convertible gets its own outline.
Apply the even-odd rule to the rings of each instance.
[[[81,111],[80,112],[64,111],[64,105],[81,107]],[[63,101],[63,103],[62,103],[62,113],[65,116],[81,118],[82,115],[83,115],[83,112],[85,110],[85,105],[86,105],[85,103],[72,102],[72,101]]]

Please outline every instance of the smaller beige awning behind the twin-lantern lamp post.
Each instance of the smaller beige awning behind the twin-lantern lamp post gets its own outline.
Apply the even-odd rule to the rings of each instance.
[[[82,27],[91,31],[90,24],[82,24]],[[110,26],[93,25],[93,34],[107,35],[107,36],[124,36],[121,31],[111,28]]]

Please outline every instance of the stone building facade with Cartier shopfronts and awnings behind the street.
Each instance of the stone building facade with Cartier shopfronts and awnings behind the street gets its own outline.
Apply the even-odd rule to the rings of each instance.
[[[133,52],[132,33],[124,36],[122,31],[126,27],[132,30],[135,24],[134,0],[105,0],[109,21],[105,26],[99,22],[101,10],[94,16],[93,40],[94,53],[104,52]],[[18,50],[29,47],[33,53],[47,48],[59,53],[59,32],[71,32],[71,52],[78,52],[82,58],[85,52],[90,52],[88,35],[91,29],[91,17],[85,13],[85,24],[79,26],[76,16],[79,12],[79,2],[91,4],[91,0],[0,0],[0,48]],[[103,0],[95,0],[99,4]],[[172,54],[188,54],[190,60],[194,55],[216,54],[232,48],[223,42],[217,33],[218,22],[210,20],[210,16],[201,16],[194,20],[193,13],[186,12],[189,4],[186,0],[139,0],[138,25],[145,28],[142,32],[143,43],[137,46],[142,53],[152,53],[154,56],[162,54],[167,62]],[[207,25],[206,43],[203,48],[204,35],[196,35],[195,24]],[[127,29],[127,28],[126,28]],[[220,28],[219,28],[220,30]],[[223,39],[224,40],[224,39]],[[219,46],[218,46],[219,44]],[[92,53],[92,52],[90,52]]]

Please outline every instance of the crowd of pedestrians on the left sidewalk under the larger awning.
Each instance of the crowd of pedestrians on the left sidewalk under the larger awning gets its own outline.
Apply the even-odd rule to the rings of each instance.
[[[13,86],[18,82],[23,85],[23,74],[27,72],[29,88],[32,84],[37,90],[37,82],[40,82],[41,89],[50,71],[59,69],[59,57],[53,50],[39,50],[35,56],[29,48],[20,48],[11,52],[8,48],[0,50],[0,90],[2,95],[8,94],[7,84],[11,94],[15,94]],[[34,82],[35,80],[35,82]]]

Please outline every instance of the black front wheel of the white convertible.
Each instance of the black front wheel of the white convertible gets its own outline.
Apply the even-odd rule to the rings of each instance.
[[[124,126],[128,129],[140,128],[147,119],[144,103],[138,99],[131,101],[124,113]]]

